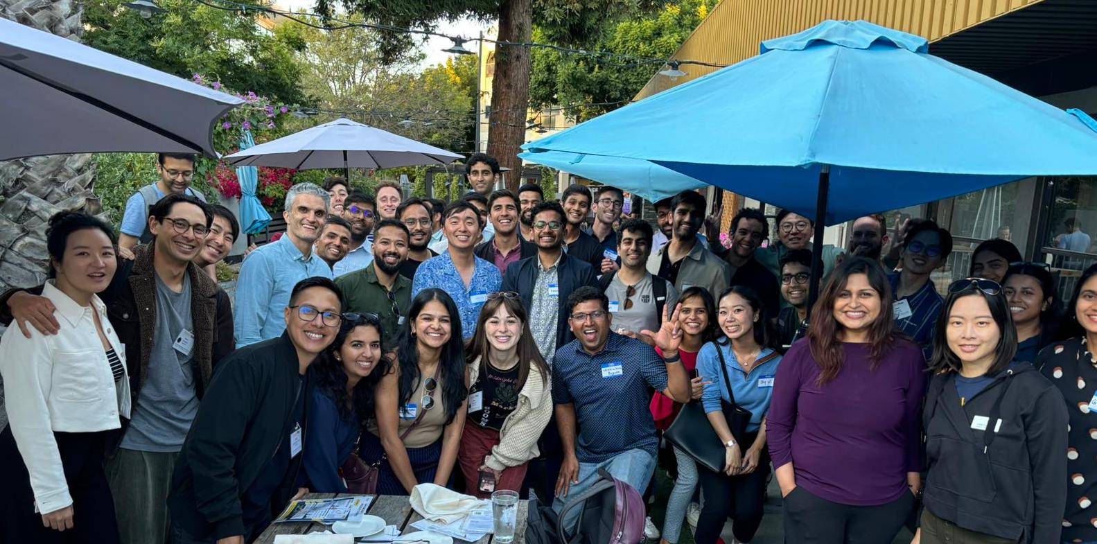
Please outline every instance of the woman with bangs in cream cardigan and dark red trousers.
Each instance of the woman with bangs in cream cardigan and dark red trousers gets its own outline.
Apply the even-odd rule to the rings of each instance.
[[[552,417],[552,381],[518,293],[488,295],[465,350],[468,417],[457,460],[466,492],[521,491]]]

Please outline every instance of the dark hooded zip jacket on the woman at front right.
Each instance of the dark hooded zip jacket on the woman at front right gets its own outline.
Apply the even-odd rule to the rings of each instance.
[[[984,422],[985,430],[973,428]],[[962,407],[955,373],[934,376],[923,424],[923,501],[934,515],[1020,543],[1060,542],[1066,407],[1032,365],[1015,362]]]

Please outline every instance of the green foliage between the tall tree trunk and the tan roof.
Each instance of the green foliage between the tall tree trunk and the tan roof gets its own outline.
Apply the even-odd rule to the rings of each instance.
[[[716,0],[675,0],[649,14],[607,25],[586,47],[648,58],[669,58],[701,23]],[[551,32],[533,31],[533,41],[550,39]],[[631,100],[663,67],[635,65],[635,60],[568,55],[552,49],[533,52],[530,102],[533,107],[558,104],[599,104]],[[569,107],[578,121],[596,117],[622,104]]]

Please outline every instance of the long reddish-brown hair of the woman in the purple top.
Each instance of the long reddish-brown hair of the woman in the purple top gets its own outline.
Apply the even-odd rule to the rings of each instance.
[[[839,339],[841,324],[834,318],[834,305],[849,283],[849,276],[853,274],[867,275],[869,285],[880,295],[880,315],[869,325],[869,345],[872,347],[869,354],[870,370],[880,366],[884,354],[900,338],[895,317],[892,315],[891,283],[884,270],[880,268],[880,263],[863,257],[847,258],[830,272],[830,281],[823,287],[818,302],[812,308],[811,325],[807,327],[812,358],[819,365],[819,386],[837,377],[846,361],[846,350]]]

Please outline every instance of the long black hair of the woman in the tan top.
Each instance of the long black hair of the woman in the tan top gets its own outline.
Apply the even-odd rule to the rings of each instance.
[[[465,347],[461,340],[461,314],[457,305],[453,304],[453,298],[449,293],[440,288],[426,288],[419,292],[411,299],[411,307],[408,308],[408,318],[404,321],[397,339],[396,360],[399,365],[400,404],[405,406],[411,400],[411,395],[419,388],[419,383],[423,379],[419,371],[419,339],[411,333],[411,325],[419,318],[422,308],[427,303],[438,301],[445,307],[450,315],[450,341],[442,348],[439,354],[438,364],[441,367],[442,399],[445,401],[445,423],[453,421],[461,403],[468,396],[468,388],[465,387]]]

